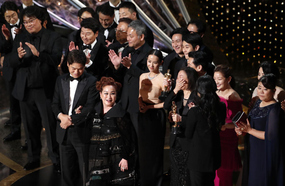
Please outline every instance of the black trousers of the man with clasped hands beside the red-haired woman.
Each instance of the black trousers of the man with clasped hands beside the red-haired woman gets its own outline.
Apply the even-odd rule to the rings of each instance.
[[[86,179],[88,174],[89,147],[90,144],[80,141],[73,126],[66,129],[63,142],[59,146],[63,186],[83,184],[83,177]]]

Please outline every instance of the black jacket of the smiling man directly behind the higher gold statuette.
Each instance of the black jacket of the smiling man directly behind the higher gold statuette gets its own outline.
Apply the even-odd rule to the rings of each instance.
[[[183,57],[184,58],[184,57]],[[172,50],[171,53],[169,53],[167,56],[165,56],[163,63],[162,63],[162,74],[167,72],[167,69],[170,69],[170,74],[171,77],[174,78],[174,74],[175,74],[175,64],[177,63],[177,61],[180,61],[181,58],[176,52],[175,50]],[[175,79],[176,80],[176,79]]]

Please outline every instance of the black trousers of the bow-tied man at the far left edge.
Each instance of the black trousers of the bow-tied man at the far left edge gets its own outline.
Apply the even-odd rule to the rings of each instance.
[[[5,81],[7,92],[9,93],[10,100],[10,121],[11,121],[11,132],[21,131],[21,111],[19,100],[12,96],[12,90],[14,88],[14,80]]]

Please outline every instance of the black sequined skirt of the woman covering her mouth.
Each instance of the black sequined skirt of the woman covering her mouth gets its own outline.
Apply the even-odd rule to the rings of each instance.
[[[179,144],[179,137],[175,139],[175,145],[171,149],[171,155],[174,160],[174,165],[171,164],[171,181],[170,185],[187,185],[187,164],[189,158],[189,152],[183,151]]]

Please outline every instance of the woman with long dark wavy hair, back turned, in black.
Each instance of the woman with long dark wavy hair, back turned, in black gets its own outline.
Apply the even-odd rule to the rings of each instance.
[[[226,105],[220,102],[216,90],[213,77],[199,77],[194,98],[196,106],[189,109],[187,117],[182,117],[185,136],[190,140],[187,168],[191,186],[213,186],[215,171],[221,166],[219,131],[225,124]]]

